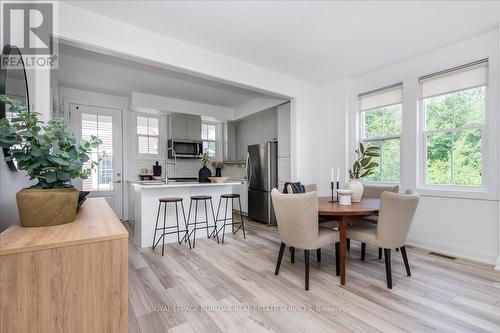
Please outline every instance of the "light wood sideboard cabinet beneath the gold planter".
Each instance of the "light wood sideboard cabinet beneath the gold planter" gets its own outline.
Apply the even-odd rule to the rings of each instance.
[[[0,333],[127,332],[128,232],[103,198],[0,234]]]

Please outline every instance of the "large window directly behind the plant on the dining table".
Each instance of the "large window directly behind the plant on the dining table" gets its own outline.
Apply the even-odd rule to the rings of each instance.
[[[363,93],[358,99],[361,142],[380,149],[380,157],[373,159],[378,168],[364,180],[399,183],[403,85]]]

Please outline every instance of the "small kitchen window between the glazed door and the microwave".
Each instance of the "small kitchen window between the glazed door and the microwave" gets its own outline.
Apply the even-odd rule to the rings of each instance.
[[[160,141],[160,119],[158,117],[137,116],[137,153],[158,155]]]

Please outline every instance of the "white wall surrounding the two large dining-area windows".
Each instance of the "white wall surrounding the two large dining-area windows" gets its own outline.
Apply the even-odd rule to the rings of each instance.
[[[499,254],[498,212],[498,30],[452,44],[352,79],[351,128],[359,93],[403,82],[401,188],[423,194],[408,242],[451,255],[494,264]],[[452,193],[419,188],[417,171],[418,77],[489,58],[487,192]],[[349,151],[358,137],[350,135]]]

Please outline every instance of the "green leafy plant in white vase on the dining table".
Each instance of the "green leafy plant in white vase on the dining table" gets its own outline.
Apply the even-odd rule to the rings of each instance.
[[[360,142],[358,148],[354,151],[356,161],[349,169],[349,189],[352,190],[351,201],[360,202],[363,196],[363,184],[360,179],[371,175],[378,163],[373,162],[372,158],[380,156],[380,149],[377,146],[366,147]]]

